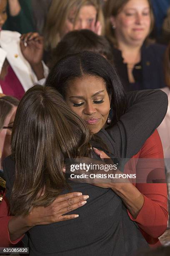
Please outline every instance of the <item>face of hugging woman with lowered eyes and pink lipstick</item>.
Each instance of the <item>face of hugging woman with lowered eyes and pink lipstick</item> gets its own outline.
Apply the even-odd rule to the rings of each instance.
[[[65,100],[72,111],[85,120],[92,133],[105,126],[110,99],[101,77],[85,75],[69,81]]]

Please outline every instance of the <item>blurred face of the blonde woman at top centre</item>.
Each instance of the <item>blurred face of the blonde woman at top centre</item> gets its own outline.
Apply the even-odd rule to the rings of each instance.
[[[80,8],[77,20],[75,22],[75,9],[68,14],[61,36],[72,30],[90,29],[96,21],[97,11],[93,5],[85,5]]]

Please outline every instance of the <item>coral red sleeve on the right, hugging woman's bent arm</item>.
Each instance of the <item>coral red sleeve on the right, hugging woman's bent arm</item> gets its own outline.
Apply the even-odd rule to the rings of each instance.
[[[131,220],[138,223],[139,227],[152,238],[161,236],[168,222],[167,210],[167,184],[165,183],[165,168],[163,161],[163,148],[160,141],[158,131],[155,131],[145,142],[140,152],[134,156],[135,158],[146,159],[148,161],[148,169],[143,168],[143,164],[136,165],[136,174],[148,171],[147,177],[155,180],[155,183],[137,183],[136,187],[144,195],[144,204],[137,218],[128,211]],[[156,183],[157,180],[164,180]]]

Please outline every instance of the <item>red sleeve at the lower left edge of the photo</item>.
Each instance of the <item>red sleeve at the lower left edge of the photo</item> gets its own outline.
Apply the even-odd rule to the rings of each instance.
[[[8,223],[11,218],[13,217],[9,216],[7,198],[4,196],[2,202],[0,203],[0,247],[9,247],[11,245],[17,244],[23,238],[22,236],[13,242],[10,241]]]

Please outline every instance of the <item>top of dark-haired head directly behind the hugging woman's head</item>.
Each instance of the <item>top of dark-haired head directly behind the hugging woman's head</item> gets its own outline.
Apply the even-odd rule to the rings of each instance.
[[[57,44],[52,52],[50,67],[68,54],[76,54],[82,51],[93,51],[105,56],[113,62],[112,49],[104,36],[98,36],[89,29],[75,30],[67,33]]]

